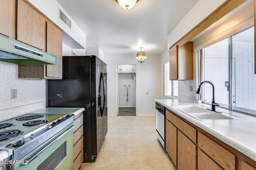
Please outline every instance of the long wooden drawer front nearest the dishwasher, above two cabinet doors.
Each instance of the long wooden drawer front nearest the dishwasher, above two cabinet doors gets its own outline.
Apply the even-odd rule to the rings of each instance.
[[[196,143],[196,129],[184,122],[170,111],[166,110],[166,119],[168,119],[174,126],[176,126],[182,133],[184,133],[191,141]]]

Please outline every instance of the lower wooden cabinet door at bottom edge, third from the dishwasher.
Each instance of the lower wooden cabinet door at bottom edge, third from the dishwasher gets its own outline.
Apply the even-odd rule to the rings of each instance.
[[[198,170],[222,170],[222,168],[198,149]]]

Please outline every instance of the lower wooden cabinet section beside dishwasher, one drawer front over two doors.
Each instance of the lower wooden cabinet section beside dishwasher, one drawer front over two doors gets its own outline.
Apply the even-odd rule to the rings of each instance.
[[[196,170],[196,130],[166,110],[166,151],[178,170]]]

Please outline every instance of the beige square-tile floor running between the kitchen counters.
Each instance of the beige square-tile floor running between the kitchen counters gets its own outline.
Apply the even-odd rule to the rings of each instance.
[[[175,170],[155,135],[155,116],[108,117],[96,162],[80,170]]]

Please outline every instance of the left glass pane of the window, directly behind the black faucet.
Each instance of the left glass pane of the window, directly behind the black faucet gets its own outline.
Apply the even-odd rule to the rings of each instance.
[[[203,72],[204,80],[209,80],[214,84],[215,102],[221,107],[228,108],[228,91],[225,82],[228,83],[228,38],[219,41],[203,49],[204,59]],[[212,86],[208,83],[204,85],[204,100],[212,103]]]

